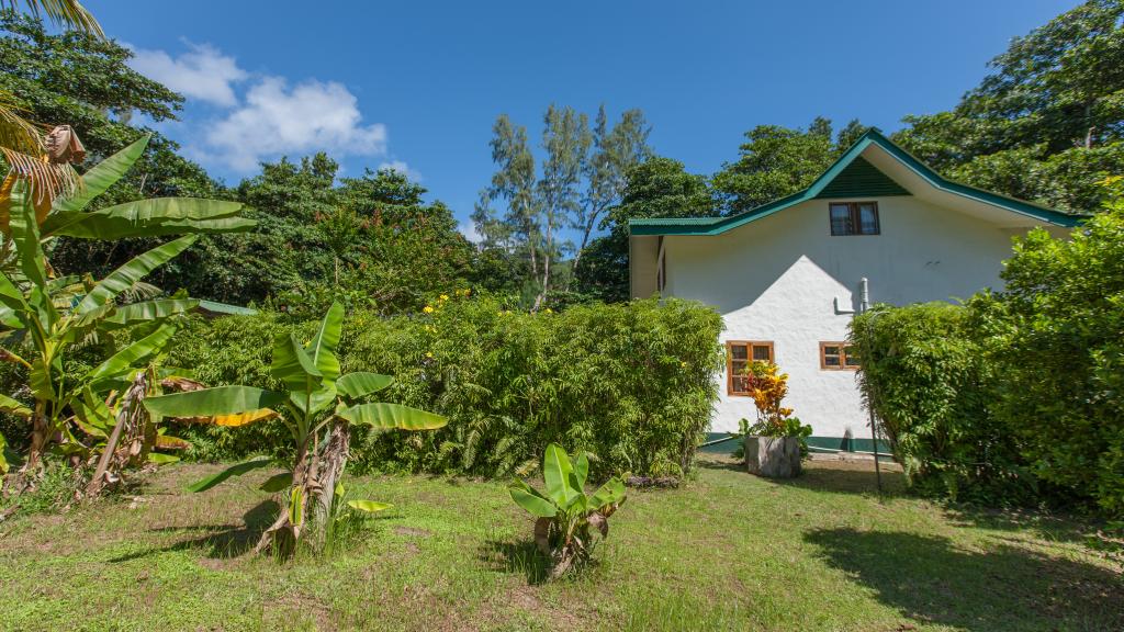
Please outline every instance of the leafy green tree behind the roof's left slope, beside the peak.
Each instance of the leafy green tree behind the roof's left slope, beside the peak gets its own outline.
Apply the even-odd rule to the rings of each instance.
[[[743,213],[810,184],[868,128],[852,120],[836,139],[831,120],[816,117],[808,129],[759,125],[745,133],[741,157],[714,175],[727,213]]]

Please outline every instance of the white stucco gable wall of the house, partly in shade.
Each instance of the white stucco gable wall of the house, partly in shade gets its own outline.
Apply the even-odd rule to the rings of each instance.
[[[841,310],[858,308],[863,277],[871,303],[895,305],[997,288],[1010,237],[1025,232],[916,197],[862,199],[878,201],[880,235],[832,236],[831,200],[819,199],[720,235],[664,237],[664,294],[715,306],[723,343],[772,341],[789,374],[787,405],[817,436],[870,432],[854,372],[819,368],[819,343],[846,338],[852,315],[836,301]],[[740,418],[754,418],[753,401],[727,395],[725,373],[719,380],[711,432],[736,431]]]

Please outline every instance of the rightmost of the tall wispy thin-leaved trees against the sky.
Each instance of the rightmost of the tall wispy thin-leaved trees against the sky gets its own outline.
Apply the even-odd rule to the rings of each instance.
[[[652,128],[638,109],[625,110],[611,128],[602,105],[593,123],[592,153],[584,163],[586,192],[575,208],[571,226],[579,231],[580,241],[573,259],[574,273],[581,268],[581,255],[589,237],[609,207],[617,204],[625,187],[625,173],[651,155],[647,136]]]

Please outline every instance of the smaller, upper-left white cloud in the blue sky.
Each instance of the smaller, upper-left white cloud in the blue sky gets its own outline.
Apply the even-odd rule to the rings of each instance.
[[[223,107],[237,105],[233,84],[246,79],[246,71],[214,46],[189,46],[191,49],[176,58],[164,51],[135,49],[128,63],[140,74],[190,99]]]

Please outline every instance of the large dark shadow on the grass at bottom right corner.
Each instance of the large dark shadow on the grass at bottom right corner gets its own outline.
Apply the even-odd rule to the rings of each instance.
[[[977,552],[903,532],[825,529],[804,538],[913,620],[973,632],[1124,629],[1124,580],[1091,563],[1008,544]]]

